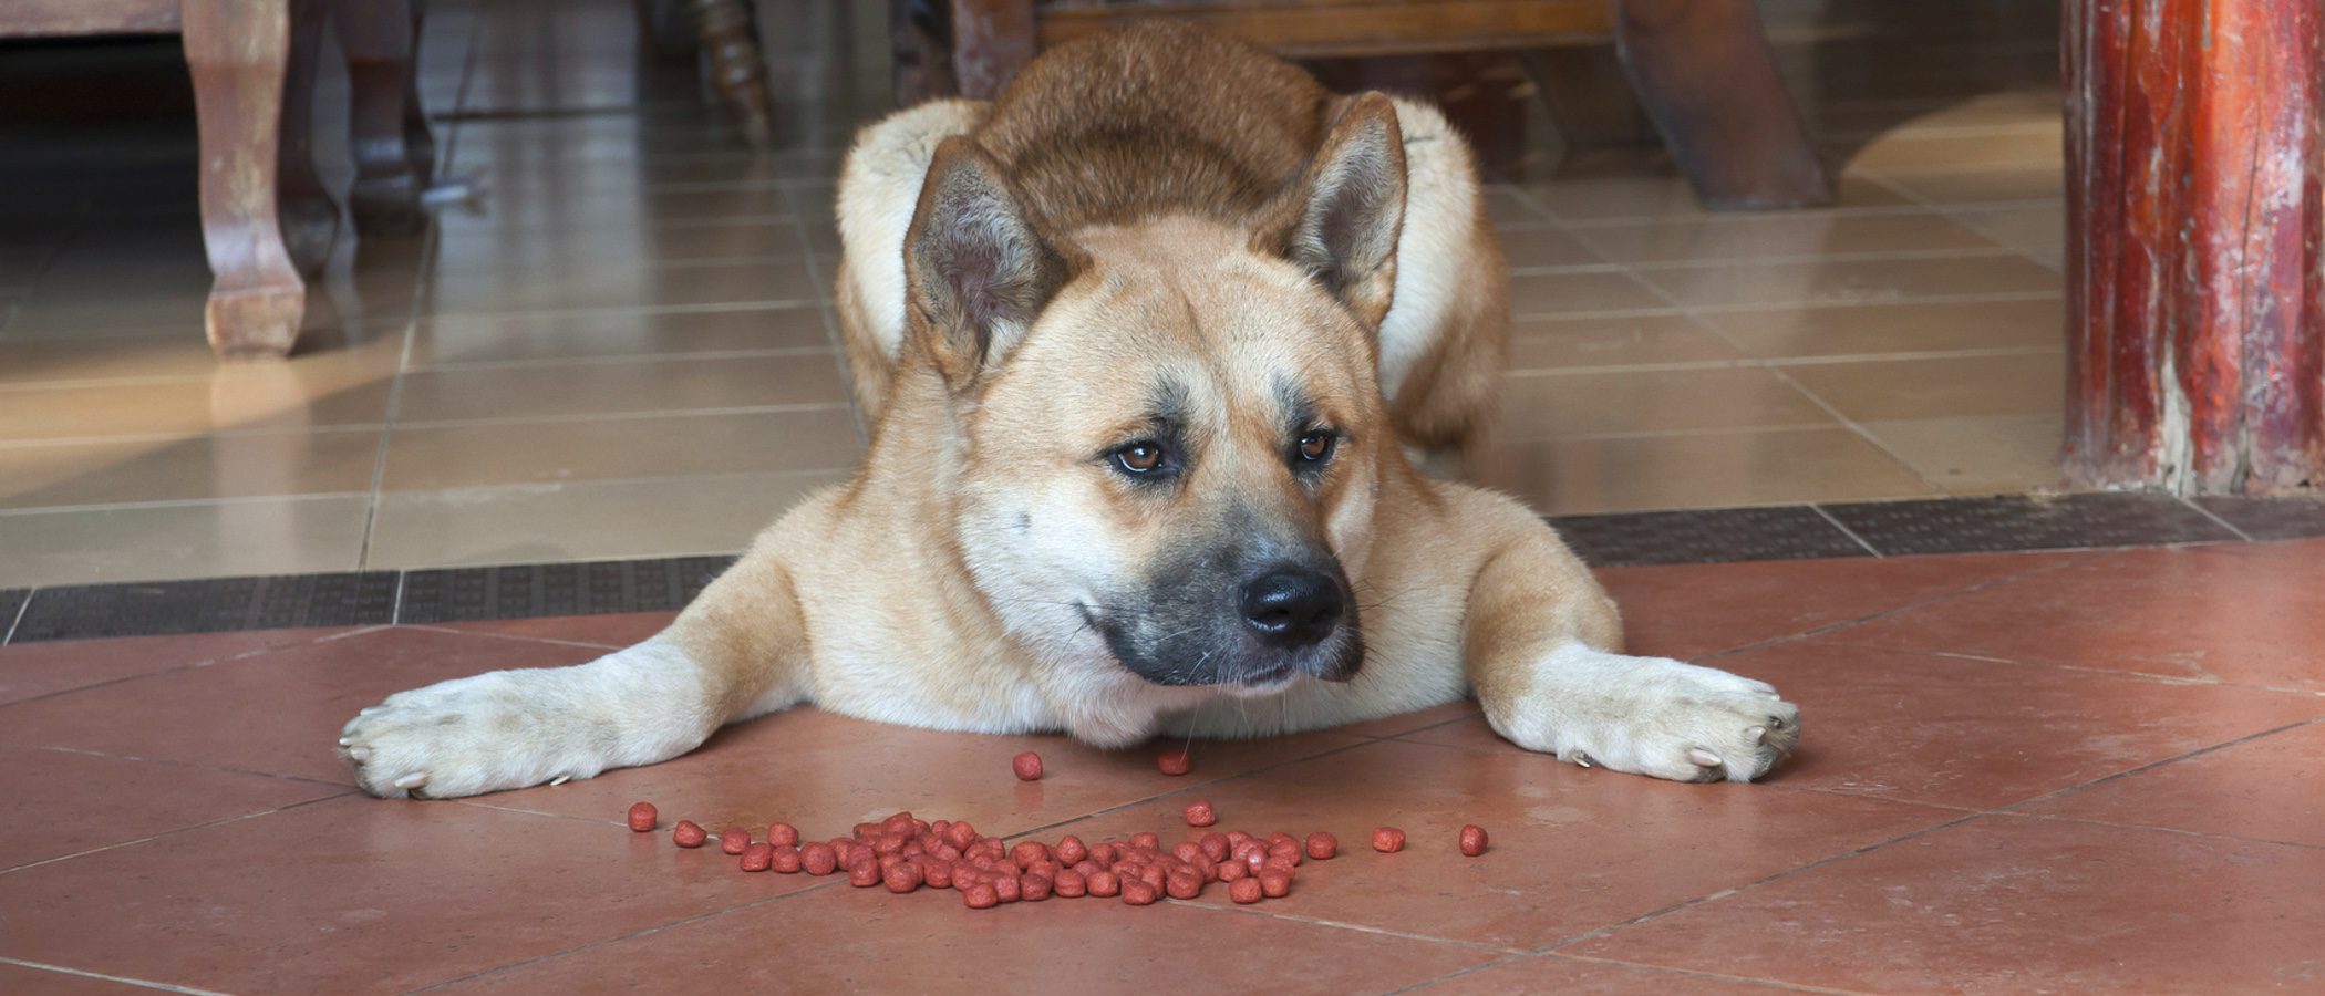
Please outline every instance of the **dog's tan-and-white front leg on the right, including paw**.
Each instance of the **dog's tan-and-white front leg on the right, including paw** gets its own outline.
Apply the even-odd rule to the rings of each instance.
[[[1479,495],[1486,497],[1486,495]],[[1511,743],[1583,766],[1681,782],[1748,782],[1800,738],[1767,683],[1667,657],[1628,657],[1611,601],[1516,501],[1469,587],[1462,659],[1486,720]]]

